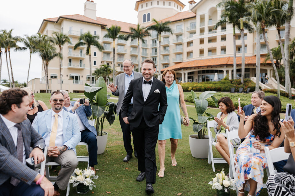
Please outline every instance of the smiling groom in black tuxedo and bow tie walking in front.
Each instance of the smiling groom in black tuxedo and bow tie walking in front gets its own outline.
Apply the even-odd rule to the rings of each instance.
[[[165,84],[153,77],[156,71],[155,63],[150,59],[142,62],[142,78],[130,82],[124,97],[121,114],[135,140],[137,150],[138,170],[136,178],[142,181],[146,176],[147,193],[154,193],[153,185],[156,182],[156,154],[159,125],[163,122],[167,109]],[[133,108],[127,117],[129,103],[133,97]],[[160,107],[159,107],[160,104]]]

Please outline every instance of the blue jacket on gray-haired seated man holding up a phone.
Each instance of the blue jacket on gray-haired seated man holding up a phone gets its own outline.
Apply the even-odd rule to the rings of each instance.
[[[74,106],[75,103],[76,103],[76,101],[71,101],[71,105]],[[65,107],[63,107],[63,109],[64,109],[65,111],[67,111],[67,110],[65,109]],[[70,113],[73,113],[72,110],[70,110],[69,112],[70,112]],[[75,112],[77,112],[77,114],[78,114],[80,120],[82,121],[83,125],[84,125],[88,130],[90,130],[92,133],[94,133],[95,136],[97,136],[97,132],[96,132],[95,127],[89,125],[89,123],[88,123],[88,119],[87,119],[87,116],[91,116],[91,114],[92,114],[91,106],[90,106],[90,105],[88,105],[88,106],[81,105],[79,108],[77,108],[77,109],[75,110]]]

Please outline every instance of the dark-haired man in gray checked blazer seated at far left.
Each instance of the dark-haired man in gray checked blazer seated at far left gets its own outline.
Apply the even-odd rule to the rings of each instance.
[[[51,182],[26,165],[27,158],[33,157],[35,164],[45,158],[44,139],[27,119],[29,103],[22,89],[12,88],[0,96],[0,195],[54,194]]]

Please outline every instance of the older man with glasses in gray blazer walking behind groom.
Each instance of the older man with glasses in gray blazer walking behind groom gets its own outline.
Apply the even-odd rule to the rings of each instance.
[[[112,94],[114,96],[119,96],[119,101],[117,104],[117,116],[119,115],[119,120],[121,124],[121,129],[123,132],[123,142],[124,142],[124,147],[126,150],[126,157],[123,159],[124,162],[127,162],[132,158],[132,145],[131,145],[131,130],[130,130],[130,125],[125,124],[122,117],[121,117],[121,107],[122,107],[122,102],[124,99],[124,96],[127,92],[127,89],[129,87],[129,83],[136,78],[142,77],[142,74],[133,71],[134,65],[131,59],[126,59],[123,61],[123,69],[124,73],[120,73],[118,76],[116,76],[116,86],[114,84],[109,84],[109,89],[111,89]],[[132,107],[133,107],[133,98],[131,99],[131,102],[129,103],[129,109],[127,116],[130,115],[132,112]],[[133,146],[134,146],[134,156],[137,157],[136,153],[136,147],[134,145],[134,140],[133,140]]]

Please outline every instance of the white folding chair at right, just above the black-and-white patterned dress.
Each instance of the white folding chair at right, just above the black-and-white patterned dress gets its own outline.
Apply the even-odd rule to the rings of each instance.
[[[276,170],[273,167],[273,163],[286,160],[289,158],[290,153],[286,153],[284,150],[284,147],[274,148],[272,150],[269,150],[268,147],[264,147],[266,160],[268,168],[266,168],[267,175],[273,175],[276,172]]]

